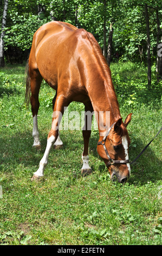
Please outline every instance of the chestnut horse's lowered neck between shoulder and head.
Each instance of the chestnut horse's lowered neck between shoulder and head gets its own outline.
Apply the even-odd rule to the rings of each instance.
[[[86,65],[88,79],[86,78],[84,83],[93,105],[99,131],[102,126],[106,126],[108,130],[110,125],[121,118],[111,70],[99,49],[94,56],[87,58]],[[85,77],[85,74],[82,77]]]

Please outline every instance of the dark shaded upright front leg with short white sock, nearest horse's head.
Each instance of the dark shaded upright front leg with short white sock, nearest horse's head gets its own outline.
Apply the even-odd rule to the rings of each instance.
[[[88,156],[88,145],[89,145],[89,138],[91,134],[92,117],[93,117],[92,103],[88,102],[85,104],[85,125],[83,126],[83,129],[82,129],[83,141],[84,141],[84,150],[82,153],[83,166],[81,169],[82,175],[87,175],[92,173],[92,169],[89,166],[89,156]]]

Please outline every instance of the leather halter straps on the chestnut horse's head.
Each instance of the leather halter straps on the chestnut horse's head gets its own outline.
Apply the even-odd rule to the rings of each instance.
[[[116,123],[116,122],[115,122]],[[114,123],[114,124],[115,124]],[[114,126],[114,124],[112,124],[110,127],[109,127],[109,129],[108,129],[108,131],[106,132],[106,135],[103,137],[103,139],[102,139],[102,141],[100,141],[100,142],[98,142],[98,145],[102,145],[103,146],[103,148],[105,149],[105,153],[106,153],[106,155],[107,155],[107,157],[108,157],[108,163],[106,163],[106,166],[108,167],[109,165],[112,165],[112,164],[115,164],[115,163],[129,163],[129,160],[113,160],[113,159],[111,159],[111,157],[109,156],[109,154],[108,154],[108,151],[107,151],[107,148],[106,148],[106,145],[105,145],[105,141],[106,141],[106,138],[107,138],[107,136],[109,135],[109,132],[112,130],[112,127]]]

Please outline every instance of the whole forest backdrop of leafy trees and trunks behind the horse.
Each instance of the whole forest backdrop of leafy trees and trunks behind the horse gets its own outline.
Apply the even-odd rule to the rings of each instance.
[[[1,0],[0,65],[27,59],[33,35],[51,20],[69,22],[91,32],[111,61],[133,60],[155,65],[162,77],[162,3],[160,0]],[[4,8],[3,8],[4,6]],[[161,42],[161,43],[160,43]]]

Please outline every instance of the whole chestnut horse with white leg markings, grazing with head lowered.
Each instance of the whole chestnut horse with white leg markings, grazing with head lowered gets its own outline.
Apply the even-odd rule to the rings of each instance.
[[[29,99],[31,91],[34,147],[40,148],[41,145],[37,113],[40,106],[38,94],[42,80],[44,79],[51,88],[56,90],[47,147],[32,180],[44,175],[51,147],[63,144],[58,128],[60,119],[69,103],[77,101],[85,105],[85,113],[95,113],[100,136],[97,150],[111,174],[111,179],[115,177],[118,182],[125,182],[131,172],[128,160],[130,139],[126,127],[131,121],[132,114],[129,114],[124,122],[122,121],[111,71],[94,36],[85,29],[77,29],[65,22],[49,22],[35,32],[27,66],[25,96]],[[106,118],[107,112],[109,120]],[[90,119],[92,122],[92,115]],[[88,129],[87,122],[88,118],[85,115],[85,126],[82,130],[83,175],[92,172],[88,164],[91,131]]]

